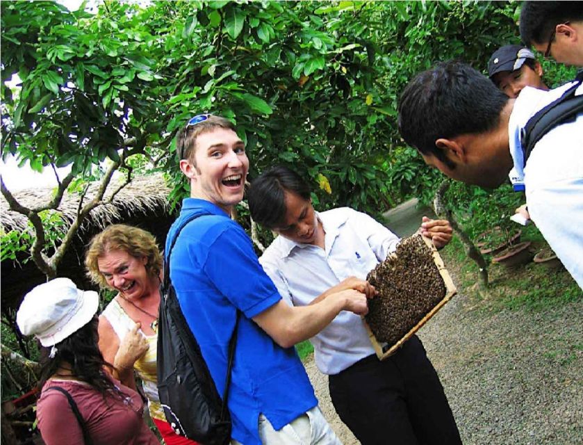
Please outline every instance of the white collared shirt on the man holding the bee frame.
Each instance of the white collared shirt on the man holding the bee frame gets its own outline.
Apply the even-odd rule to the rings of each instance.
[[[400,239],[373,218],[347,207],[317,213],[325,249],[275,238],[259,261],[290,305],[305,306],[347,277],[366,275],[393,252]],[[315,362],[336,374],[375,353],[360,316],[343,311],[311,339]]]

